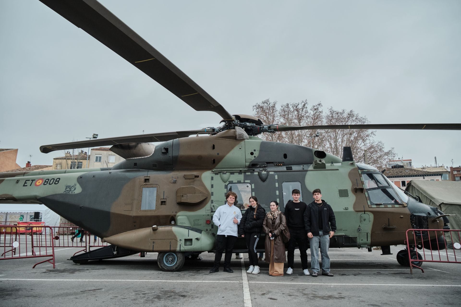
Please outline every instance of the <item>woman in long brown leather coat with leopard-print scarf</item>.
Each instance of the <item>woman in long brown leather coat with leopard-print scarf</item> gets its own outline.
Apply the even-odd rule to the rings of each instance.
[[[287,222],[275,200],[271,202],[270,208],[262,226],[266,233],[266,262],[269,263],[269,275],[284,276],[285,243],[281,233],[286,229]]]

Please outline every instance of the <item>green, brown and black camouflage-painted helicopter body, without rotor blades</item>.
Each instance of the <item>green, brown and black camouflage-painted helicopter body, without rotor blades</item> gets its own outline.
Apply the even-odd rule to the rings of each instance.
[[[139,251],[213,250],[217,229],[210,221],[225,203],[229,184],[248,183],[266,210],[277,200],[281,211],[283,193],[291,194],[283,190],[284,182],[298,182],[306,203],[313,200],[314,189],[321,189],[336,214],[331,247],[403,244],[405,232],[413,228],[412,212],[437,215],[412,198],[402,204],[371,204],[361,173],[380,174],[372,167],[359,168],[309,147],[236,135],[230,129],[171,140],[157,145],[151,156],[127,159],[111,169],[3,173],[0,202],[43,203],[106,242]],[[316,151],[325,157],[316,157]],[[141,210],[146,187],[157,188],[155,209]],[[428,220],[429,229],[443,228],[442,219]],[[185,245],[190,239],[192,245]],[[244,246],[240,240],[236,248]]]

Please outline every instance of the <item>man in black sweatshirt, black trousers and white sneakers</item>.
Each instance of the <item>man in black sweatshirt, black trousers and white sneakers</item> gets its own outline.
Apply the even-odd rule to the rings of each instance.
[[[307,270],[307,232],[304,225],[304,211],[307,204],[301,202],[299,197],[301,193],[298,189],[291,192],[293,200],[289,200],[285,205],[285,217],[287,220],[288,230],[290,231],[290,241],[287,243],[288,250],[288,269],[287,274],[293,274],[295,262],[295,246],[299,247],[301,254],[301,266],[304,275],[309,275]]]

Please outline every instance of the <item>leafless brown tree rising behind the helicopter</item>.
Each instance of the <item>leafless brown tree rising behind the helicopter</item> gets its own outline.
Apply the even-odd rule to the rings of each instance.
[[[300,103],[282,104],[277,108],[277,101],[269,99],[253,105],[254,116],[267,125],[288,126],[345,125],[369,123],[366,116],[360,116],[354,110],[323,111],[321,103],[309,107],[307,100]],[[319,137],[314,137],[319,133]],[[394,148],[384,149],[384,143],[374,139],[376,131],[366,129],[344,130],[298,130],[282,133],[264,133],[261,139],[304,145],[323,150],[342,157],[343,147],[350,146],[356,162],[364,162],[364,151],[368,152],[368,163],[373,166],[384,165],[395,156]]]

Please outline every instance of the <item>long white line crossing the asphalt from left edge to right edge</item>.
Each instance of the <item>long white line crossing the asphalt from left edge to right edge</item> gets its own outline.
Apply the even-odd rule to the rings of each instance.
[[[12,281],[95,281],[95,282],[154,282],[154,283],[232,283],[240,284],[241,281],[226,280],[166,280],[166,279],[38,279],[38,278],[0,278],[0,280]],[[461,287],[461,284],[341,284],[341,283],[290,283],[290,282],[270,282],[270,281],[249,281],[248,284],[292,284],[292,285],[324,285],[324,286],[390,286],[390,287]]]

